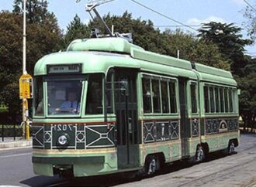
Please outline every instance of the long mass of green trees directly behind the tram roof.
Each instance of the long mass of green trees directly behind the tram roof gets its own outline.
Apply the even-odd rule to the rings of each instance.
[[[221,56],[216,44],[201,41],[191,33],[185,33],[181,30],[172,32],[168,29],[161,33],[159,29],[154,28],[154,24],[150,20],[133,19],[132,14],[128,12],[124,12],[121,16],[108,14],[103,16],[103,19],[109,27],[113,25],[116,32],[131,32],[133,42],[146,50],[168,56],[177,56],[176,53],[179,49],[182,59],[230,70],[229,59]],[[98,19],[89,22],[88,27],[90,29],[98,28],[102,34],[106,34]]]

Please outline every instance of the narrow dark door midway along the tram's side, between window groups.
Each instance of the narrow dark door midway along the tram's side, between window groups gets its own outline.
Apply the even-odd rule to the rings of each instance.
[[[189,155],[189,117],[188,117],[188,106],[187,106],[187,80],[180,78],[178,80],[179,90],[179,102],[181,112],[181,138],[182,138],[182,157]]]

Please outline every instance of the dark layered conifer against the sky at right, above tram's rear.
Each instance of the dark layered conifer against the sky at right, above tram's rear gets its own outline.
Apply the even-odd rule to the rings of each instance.
[[[199,37],[202,40],[215,43],[224,58],[230,59],[231,71],[241,75],[242,69],[248,61],[244,57],[244,46],[250,45],[250,39],[242,39],[241,28],[234,23],[209,22],[199,29]]]

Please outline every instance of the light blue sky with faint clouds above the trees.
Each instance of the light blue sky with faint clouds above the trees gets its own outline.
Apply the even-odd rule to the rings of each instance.
[[[182,22],[189,26],[199,26],[203,22],[234,22],[235,26],[243,29],[241,34],[244,39],[247,37],[247,30],[244,22],[246,19],[243,16],[246,3],[244,0],[136,0],[149,8],[154,9],[161,14]],[[88,0],[48,0],[49,11],[54,12],[57,16],[58,24],[64,32],[67,30],[68,24],[78,14],[82,22],[87,23],[90,20],[90,15],[85,12],[85,5]],[[247,0],[251,5],[254,5],[254,0]],[[12,0],[0,0],[0,10],[12,11]],[[176,22],[166,19],[161,15],[151,12],[147,8],[137,5],[131,0],[116,0],[100,5],[97,10],[101,15],[110,12],[110,15],[123,15],[126,10],[132,13],[133,18],[148,20],[154,22],[154,26],[177,26]],[[199,27],[194,27],[199,29]],[[164,30],[164,27],[160,28]],[[169,27],[176,29],[176,27]],[[195,32],[195,30],[181,27],[184,31]],[[116,32],[116,31],[115,31]],[[196,32],[195,32],[196,33]],[[0,33],[1,34],[1,33]],[[247,53],[256,56],[256,45],[247,46]]]

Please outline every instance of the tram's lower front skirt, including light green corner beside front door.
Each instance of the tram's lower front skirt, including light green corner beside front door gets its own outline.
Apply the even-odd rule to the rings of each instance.
[[[116,156],[41,156],[33,155],[33,171],[37,175],[53,176],[54,171],[71,170],[74,177],[104,175],[117,171]]]

